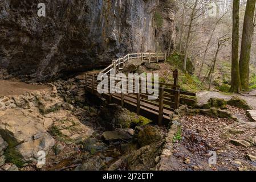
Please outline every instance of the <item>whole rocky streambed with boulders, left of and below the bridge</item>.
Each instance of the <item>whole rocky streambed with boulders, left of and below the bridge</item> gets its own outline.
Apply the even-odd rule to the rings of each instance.
[[[156,169],[165,128],[87,95],[81,76],[46,86],[0,97],[0,170]]]

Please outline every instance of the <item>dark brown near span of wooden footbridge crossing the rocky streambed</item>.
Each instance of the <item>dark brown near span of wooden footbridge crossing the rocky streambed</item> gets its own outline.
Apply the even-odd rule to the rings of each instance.
[[[188,106],[193,106],[196,104],[196,100],[194,99],[194,97],[196,97],[196,93],[184,92],[179,89],[180,86],[177,85],[177,71],[175,71],[173,74],[174,84],[160,82],[157,88],[152,89],[151,86],[149,86],[149,89],[145,89],[142,88],[141,81],[139,84],[136,84],[136,82],[133,80],[127,80],[124,84],[127,85],[126,90],[132,89],[133,92],[120,94],[110,92],[111,89],[115,89],[115,85],[120,81],[112,80],[114,85],[111,85],[109,84],[112,79],[111,76],[108,76],[108,80],[104,80],[104,82],[101,82],[101,79],[98,79],[98,76],[99,74],[86,74],[86,90],[88,92],[96,94],[109,104],[113,103],[120,105],[137,113],[138,115],[151,119],[152,121],[158,121],[159,125],[168,123],[170,121],[170,114],[182,104],[186,104]],[[106,90],[107,92],[102,94],[97,92],[97,87],[100,83],[108,84],[108,89]],[[152,96],[152,94],[149,94],[149,92],[152,93],[154,90],[156,91],[156,89],[159,94],[155,100],[149,100],[149,96]]]

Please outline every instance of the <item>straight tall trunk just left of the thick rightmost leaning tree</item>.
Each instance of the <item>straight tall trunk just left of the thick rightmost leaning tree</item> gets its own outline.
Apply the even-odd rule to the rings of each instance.
[[[232,68],[230,92],[238,93],[242,90],[239,72],[239,0],[233,1],[233,33],[232,33]]]

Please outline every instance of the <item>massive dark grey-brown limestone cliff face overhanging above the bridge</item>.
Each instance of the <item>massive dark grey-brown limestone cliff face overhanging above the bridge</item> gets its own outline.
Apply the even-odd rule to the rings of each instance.
[[[38,17],[38,3],[46,17]],[[166,51],[172,16],[170,0],[1,0],[0,69],[47,80],[128,52]]]

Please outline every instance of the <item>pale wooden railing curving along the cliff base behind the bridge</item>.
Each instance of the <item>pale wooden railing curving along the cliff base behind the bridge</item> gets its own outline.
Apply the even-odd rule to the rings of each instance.
[[[121,70],[124,69],[125,64],[129,60],[133,59],[141,59],[141,63],[159,63],[159,61],[165,61],[166,60],[166,53],[157,52],[157,53],[128,53],[128,55],[121,57],[117,60],[113,60],[112,64],[109,65],[107,68],[103,69],[100,73],[103,74],[109,74],[111,71],[114,71],[114,73],[119,73]]]

